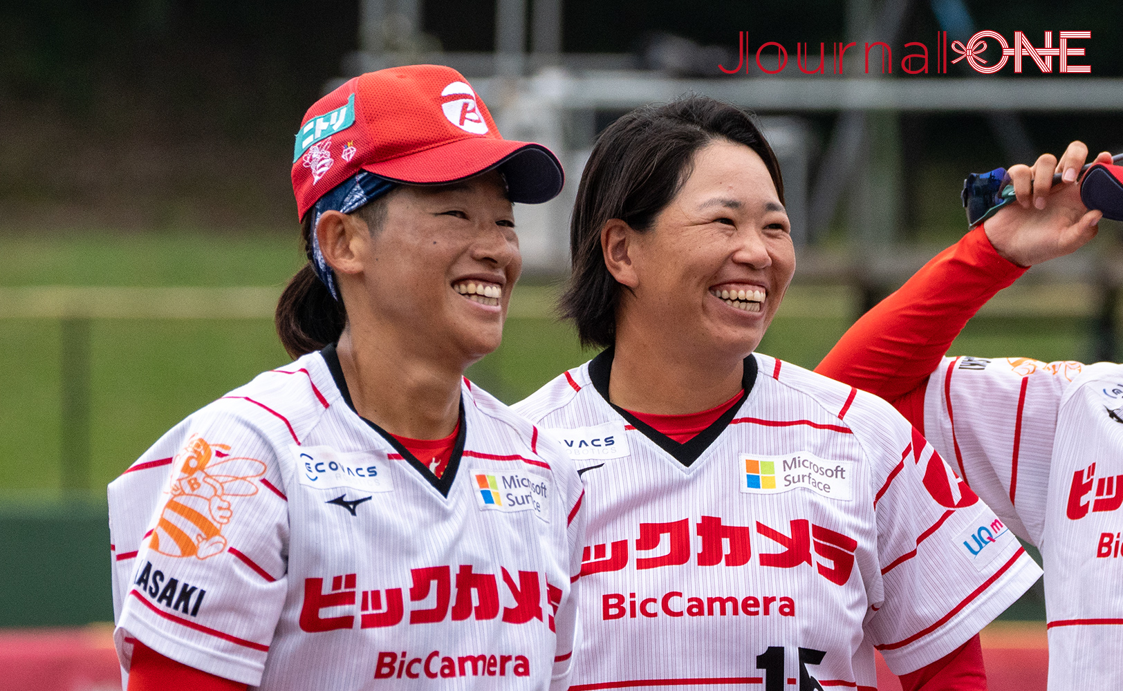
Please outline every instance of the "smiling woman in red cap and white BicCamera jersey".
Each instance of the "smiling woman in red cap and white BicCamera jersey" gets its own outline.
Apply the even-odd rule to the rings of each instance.
[[[296,135],[294,362],[109,487],[128,689],[566,685],[582,483],[463,377],[502,334],[511,203],[562,187],[459,74],[353,79]]]

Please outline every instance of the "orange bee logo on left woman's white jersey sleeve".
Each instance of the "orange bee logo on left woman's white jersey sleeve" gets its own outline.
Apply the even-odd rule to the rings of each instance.
[[[211,444],[199,435],[172,463],[171,497],[152,533],[152,549],[167,556],[207,559],[226,551],[222,528],[234,517],[227,497],[257,494],[252,479],[265,475],[265,463],[231,457],[228,444]]]

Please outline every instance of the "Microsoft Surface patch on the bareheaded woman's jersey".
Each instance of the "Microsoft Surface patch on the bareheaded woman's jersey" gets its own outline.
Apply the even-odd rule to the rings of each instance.
[[[828,461],[800,451],[785,455],[741,454],[745,475],[741,491],[775,495],[793,489],[849,501],[852,494],[853,461]]]

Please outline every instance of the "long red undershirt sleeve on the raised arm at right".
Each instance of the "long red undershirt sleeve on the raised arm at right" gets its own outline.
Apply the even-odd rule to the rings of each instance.
[[[815,371],[892,403],[922,386],[967,320],[1025,270],[979,225],[862,315]]]

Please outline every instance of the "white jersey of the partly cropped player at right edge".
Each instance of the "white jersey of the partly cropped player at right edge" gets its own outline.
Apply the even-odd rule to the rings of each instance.
[[[924,430],[1041,550],[1049,688],[1123,681],[1123,366],[944,358]]]

